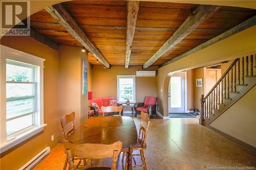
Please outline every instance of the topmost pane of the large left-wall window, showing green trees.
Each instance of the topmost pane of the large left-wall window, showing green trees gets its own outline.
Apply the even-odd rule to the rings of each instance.
[[[32,73],[30,67],[6,64],[6,81],[32,82]]]

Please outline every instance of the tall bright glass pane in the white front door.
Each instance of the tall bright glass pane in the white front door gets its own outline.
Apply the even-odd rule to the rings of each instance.
[[[181,77],[170,78],[170,107],[181,108]]]

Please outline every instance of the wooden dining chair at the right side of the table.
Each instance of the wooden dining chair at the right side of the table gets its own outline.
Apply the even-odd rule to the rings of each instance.
[[[133,150],[134,151],[136,151],[136,150],[140,151],[140,154],[132,154],[132,158],[133,158],[133,161],[135,163],[135,166],[133,166],[133,167],[145,167],[145,169],[147,170],[148,166],[147,166],[147,161],[146,161],[146,156],[145,156],[145,150],[146,150],[147,131],[148,131],[148,127],[150,126],[150,121],[149,121],[150,115],[141,111],[140,119],[141,119],[141,123],[140,123],[138,142],[133,147]],[[123,159],[124,159],[125,156],[126,156],[126,161],[125,161],[125,169],[126,169],[127,163],[128,163],[127,162],[128,161],[128,154],[123,153],[122,162],[123,162]],[[135,160],[135,156],[140,156],[141,157],[142,165],[137,165],[136,160]]]

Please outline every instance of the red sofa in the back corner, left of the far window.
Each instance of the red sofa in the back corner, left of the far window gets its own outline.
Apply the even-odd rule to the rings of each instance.
[[[106,98],[93,98],[90,100],[90,108],[91,110],[94,110],[96,116],[102,114],[101,106],[110,106],[110,101],[115,100],[113,97],[106,97]],[[93,107],[92,103],[97,103],[99,106],[99,110],[97,110],[95,107]],[[121,106],[122,104],[117,104],[117,106]],[[121,113],[123,115],[123,111]]]

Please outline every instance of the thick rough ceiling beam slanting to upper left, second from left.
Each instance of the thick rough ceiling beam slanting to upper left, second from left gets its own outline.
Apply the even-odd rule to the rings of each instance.
[[[65,27],[65,29],[79,41],[89,52],[91,52],[106,68],[110,68],[110,64],[101,55],[98,48],[87,37],[86,33],[78,26],[76,21],[68,13],[68,11],[61,4],[45,8],[49,14],[55,18],[58,23]]]

